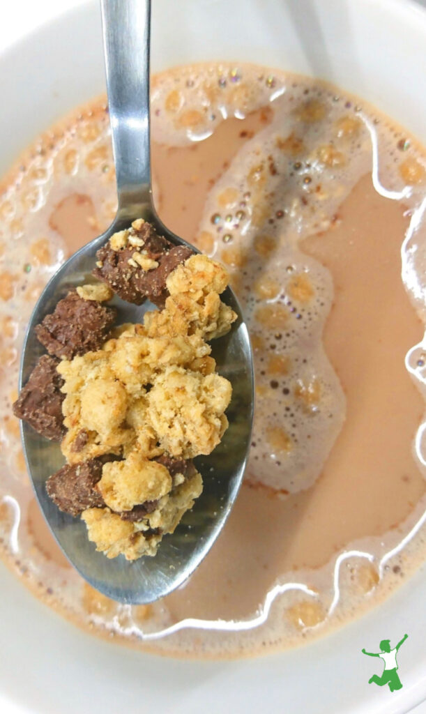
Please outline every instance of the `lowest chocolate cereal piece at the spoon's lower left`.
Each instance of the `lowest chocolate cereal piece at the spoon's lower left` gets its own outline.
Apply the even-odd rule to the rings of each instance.
[[[63,466],[46,482],[46,491],[60,511],[79,516],[86,508],[103,508],[105,503],[96,483],[102,476],[103,463],[98,458]]]

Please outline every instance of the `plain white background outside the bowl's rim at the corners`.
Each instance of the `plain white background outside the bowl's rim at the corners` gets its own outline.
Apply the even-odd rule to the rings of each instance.
[[[0,11],[0,52],[21,36],[36,29],[37,26],[72,7],[83,4],[84,1],[12,0],[7,4],[4,3]],[[417,0],[417,2],[426,7],[426,0]],[[412,712],[426,714],[426,701],[418,705]],[[9,710],[2,714],[14,714],[14,712]]]

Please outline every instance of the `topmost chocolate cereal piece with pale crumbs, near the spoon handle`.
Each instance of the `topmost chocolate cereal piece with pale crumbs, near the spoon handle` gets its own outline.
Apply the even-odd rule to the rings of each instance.
[[[168,275],[192,253],[191,248],[173,246],[151,223],[139,219],[96,253],[93,275],[129,303],[141,305],[148,298],[163,307]]]

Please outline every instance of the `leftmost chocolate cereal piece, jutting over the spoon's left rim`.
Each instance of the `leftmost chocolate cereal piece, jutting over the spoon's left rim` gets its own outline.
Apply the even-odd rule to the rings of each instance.
[[[56,371],[59,360],[42,356],[13,406],[14,415],[27,421],[41,436],[61,441],[66,429],[62,414],[64,380]]]

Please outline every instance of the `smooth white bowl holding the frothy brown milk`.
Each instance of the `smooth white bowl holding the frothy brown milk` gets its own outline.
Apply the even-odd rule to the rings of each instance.
[[[223,59],[323,77],[426,143],[426,11],[408,0],[155,0],[152,44],[154,70]],[[0,86],[3,171],[39,131],[103,91],[97,3],[62,14],[0,54]],[[426,697],[424,568],[380,608],[323,640],[215,663],[110,645],[41,605],[4,567],[0,583],[2,712],[388,714]],[[383,633],[395,640],[405,632],[402,690],[372,690],[361,648]]]

